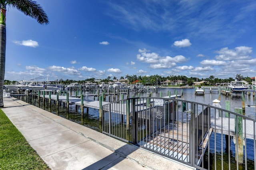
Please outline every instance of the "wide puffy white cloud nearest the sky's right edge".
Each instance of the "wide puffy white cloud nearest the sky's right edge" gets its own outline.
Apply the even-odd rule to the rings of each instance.
[[[217,60],[244,60],[251,59],[252,47],[240,46],[234,50],[228,49],[228,47],[216,51],[219,55],[216,56]]]

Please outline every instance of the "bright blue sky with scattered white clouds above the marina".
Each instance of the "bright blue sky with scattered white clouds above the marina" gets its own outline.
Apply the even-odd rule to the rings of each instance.
[[[256,76],[255,0],[38,0],[9,8],[6,80]]]

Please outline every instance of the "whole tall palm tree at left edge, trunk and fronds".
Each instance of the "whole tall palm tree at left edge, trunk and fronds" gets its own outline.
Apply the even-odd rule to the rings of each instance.
[[[33,0],[0,0],[0,107],[4,107],[4,72],[5,72],[5,52],[6,52],[6,6],[16,8],[26,16],[30,16],[40,24],[48,24],[48,16],[43,8]]]

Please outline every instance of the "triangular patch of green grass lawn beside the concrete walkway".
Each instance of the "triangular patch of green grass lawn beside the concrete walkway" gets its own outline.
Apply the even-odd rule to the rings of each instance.
[[[0,170],[50,170],[0,109]]]

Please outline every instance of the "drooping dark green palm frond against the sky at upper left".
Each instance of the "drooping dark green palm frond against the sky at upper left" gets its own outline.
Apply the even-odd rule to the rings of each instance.
[[[42,25],[49,23],[47,14],[34,0],[6,0],[6,5],[16,8],[26,16],[36,19]]]

